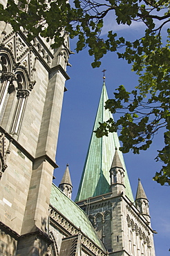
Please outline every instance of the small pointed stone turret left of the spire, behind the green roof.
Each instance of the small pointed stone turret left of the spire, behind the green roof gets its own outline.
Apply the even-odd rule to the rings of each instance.
[[[66,194],[66,196],[68,196],[71,199],[73,185],[72,185],[71,179],[70,179],[70,171],[68,168],[68,164],[66,165],[66,170],[64,172],[62,181],[59,184],[59,188],[60,188],[60,190],[62,190],[62,192],[64,192],[64,194]]]

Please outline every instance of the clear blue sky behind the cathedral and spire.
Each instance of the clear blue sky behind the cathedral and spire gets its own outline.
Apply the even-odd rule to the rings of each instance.
[[[104,26],[104,29],[108,29],[108,22]],[[142,34],[143,29],[139,25],[134,26],[133,30],[123,30],[123,28],[121,30],[124,35],[135,38],[136,33]],[[72,51],[74,51],[75,39],[70,44]],[[115,53],[108,53],[102,59],[100,68],[91,68],[91,62],[93,62],[93,57],[89,57],[87,49],[70,56],[72,67],[68,67],[70,80],[66,82],[68,91],[64,93],[57,145],[56,160],[59,168],[55,170],[55,184],[59,185],[68,163],[73,182],[73,200],[77,194],[97,105],[100,100],[103,82],[102,70],[106,69],[108,98],[113,97],[113,91],[120,84],[124,84],[129,91],[138,84],[138,77],[131,72],[131,66],[126,61],[118,60]],[[114,118],[116,119],[116,115]],[[133,196],[135,196],[138,178],[140,178],[149,199],[151,226],[153,230],[158,232],[157,235],[154,235],[157,256],[170,255],[170,188],[152,181],[155,172],[160,171],[161,167],[161,163],[156,163],[154,158],[157,156],[157,150],[162,149],[163,145],[163,136],[160,132],[155,136],[153,144],[147,152],[141,152],[139,155],[134,155],[131,152],[124,154]]]

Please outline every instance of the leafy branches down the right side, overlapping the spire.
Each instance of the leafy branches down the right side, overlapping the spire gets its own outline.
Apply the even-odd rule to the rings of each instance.
[[[168,30],[169,33],[169,30]],[[144,40],[144,39],[143,39]],[[135,53],[136,54],[136,53]],[[126,53],[124,53],[126,55]],[[133,150],[139,154],[140,150],[147,150],[158,130],[164,128],[164,147],[158,150],[156,161],[162,161],[162,169],[156,172],[153,180],[161,185],[170,185],[170,51],[169,40],[164,47],[144,53],[133,64],[133,70],[140,75],[137,90],[127,92],[124,86],[114,93],[115,99],[107,100],[106,109],[111,113],[123,113],[119,120],[113,119],[100,123],[95,131],[97,137],[108,136],[108,132],[121,129],[123,153]],[[147,95],[147,98],[146,98]]]

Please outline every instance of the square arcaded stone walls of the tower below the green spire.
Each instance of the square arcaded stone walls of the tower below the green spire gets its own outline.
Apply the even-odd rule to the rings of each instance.
[[[153,230],[124,194],[105,194],[77,203],[93,224],[109,255],[155,256]]]

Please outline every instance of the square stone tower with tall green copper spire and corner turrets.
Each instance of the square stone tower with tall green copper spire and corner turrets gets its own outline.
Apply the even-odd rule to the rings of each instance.
[[[106,100],[104,83],[93,131],[99,122],[112,118],[104,109]],[[75,201],[88,215],[109,255],[155,256],[147,196],[139,181],[134,204],[119,147],[116,133],[100,139],[92,134]]]

